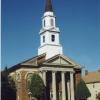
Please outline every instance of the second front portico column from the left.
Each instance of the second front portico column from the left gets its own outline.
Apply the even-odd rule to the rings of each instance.
[[[56,72],[52,72],[52,92],[53,92],[53,98],[52,100],[56,100]]]

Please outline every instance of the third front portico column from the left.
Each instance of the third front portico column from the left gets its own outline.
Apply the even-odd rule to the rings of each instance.
[[[62,83],[62,100],[66,100],[66,90],[65,90],[65,72],[61,72],[61,83]]]

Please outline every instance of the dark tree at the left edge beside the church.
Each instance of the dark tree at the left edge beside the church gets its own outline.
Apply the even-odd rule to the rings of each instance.
[[[1,100],[16,100],[15,84],[8,78],[7,67],[1,72]]]

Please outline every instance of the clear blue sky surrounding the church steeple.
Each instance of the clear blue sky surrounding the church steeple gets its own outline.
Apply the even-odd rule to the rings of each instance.
[[[52,0],[64,55],[100,69],[100,0]],[[37,55],[45,0],[2,0],[2,69]]]

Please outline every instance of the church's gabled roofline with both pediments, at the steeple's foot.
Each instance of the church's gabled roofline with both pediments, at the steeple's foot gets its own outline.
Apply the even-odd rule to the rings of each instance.
[[[9,71],[12,72],[20,68],[40,68],[42,66],[80,69],[80,65],[78,65],[72,59],[64,55],[58,54],[47,60],[45,59],[45,57],[45,53],[42,55],[35,56],[21,63],[18,63],[15,66],[12,66],[11,68],[9,68]]]

